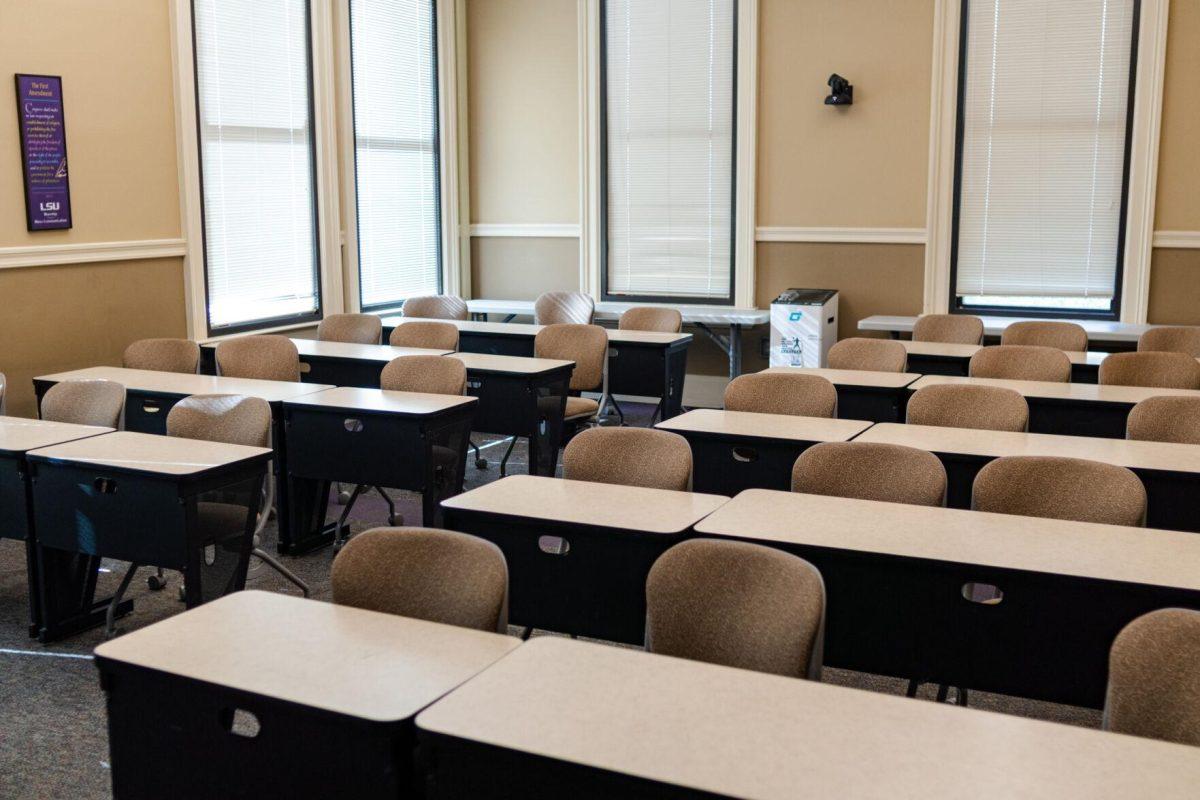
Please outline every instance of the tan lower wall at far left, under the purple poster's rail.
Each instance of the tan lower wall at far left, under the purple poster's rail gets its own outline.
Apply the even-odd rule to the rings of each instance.
[[[119,365],[139,338],[187,336],[182,259],[0,270],[8,414],[34,416],[34,375]]]

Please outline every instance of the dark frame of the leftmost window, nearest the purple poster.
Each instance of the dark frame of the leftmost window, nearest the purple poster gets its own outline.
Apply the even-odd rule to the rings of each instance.
[[[192,102],[194,106],[196,114],[196,163],[197,163],[197,186],[199,188],[199,252],[200,252],[200,272],[203,277],[204,285],[204,331],[209,337],[218,336],[235,336],[240,333],[250,333],[253,331],[262,331],[265,329],[278,329],[278,327],[292,327],[301,325],[312,325],[319,323],[325,315],[325,294],[324,294],[324,281],[322,270],[322,237],[320,237],[320,181],[318,179],[318,160],[317,160],[317,107],[316,107],[316,82],[314,82],[314,42],[313,42],[313,7],[312,0],[304,0],[305,5],[305,65],[307,67],[307,74],[305,84],[308,90],[307,106],[308,106],[308,169],[310,169],[310,182],[312,187],[312,271],[313,271],[313,284],[316,287],[316,300],[317,307],[306,314],[293,314],[287,317],[272,317],[266,319],[256,319],[245,323],[236,323],[232,325],[222,325],[218,327],[212,326],[212,308],[211,308],[211,287],[209,282],[209,241],[208,241],[208,212],[205,209],[204,198],[204,148],[202,130],[204,127],[204,116],[200,109],[200,79],[199,79],[199,53],[197,48],[197,30],[196,30],[196,0],[188,0],[187,2],[187,24],[191,29],[191,44],[192,44],[192,76],[193,79],[193,91]]]

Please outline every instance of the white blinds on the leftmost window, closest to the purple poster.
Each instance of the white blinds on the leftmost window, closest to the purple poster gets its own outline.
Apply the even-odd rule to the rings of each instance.
[[[196,0],[209,329],[320,303],[305,0]]]

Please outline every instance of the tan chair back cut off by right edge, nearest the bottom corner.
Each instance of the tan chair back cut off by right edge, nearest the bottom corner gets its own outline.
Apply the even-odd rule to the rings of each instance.
[[[1200,745],[1200,612],[1159,608],[1117,634],[1109,652],[1104,728]]]

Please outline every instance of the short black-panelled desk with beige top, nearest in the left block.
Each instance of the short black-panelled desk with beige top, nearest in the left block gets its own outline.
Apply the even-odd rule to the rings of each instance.
[[[72,583],[41,576],[42,642],[95,624],[101,558],[181,571],[188,608],[246,585],[266,447],[118,431],[26,457],[38,561],[71,553],[92,565]]]

